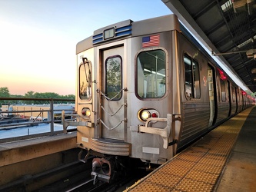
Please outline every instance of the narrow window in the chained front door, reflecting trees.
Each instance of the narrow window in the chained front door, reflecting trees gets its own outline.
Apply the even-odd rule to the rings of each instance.
[[[105,92],[111,100],[121,98],[121,57],[109,57],[105,61]]]

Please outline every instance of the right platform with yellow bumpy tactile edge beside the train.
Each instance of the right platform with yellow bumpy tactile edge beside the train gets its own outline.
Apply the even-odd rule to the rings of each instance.
[[[256,191],[255,124],[242,111],[125,191]]]

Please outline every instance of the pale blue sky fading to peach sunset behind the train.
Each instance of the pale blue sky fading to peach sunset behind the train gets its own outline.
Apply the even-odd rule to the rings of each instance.
[[[171,14],[161,0],[0,0],[0,88],[75,94],[75,46],[127,19]]]

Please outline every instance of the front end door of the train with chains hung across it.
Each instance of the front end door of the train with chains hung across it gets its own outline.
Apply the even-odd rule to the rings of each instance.
[[[124,140],[125,95],[123,90],[124,47],[102,51],[101,131],[102,137]]]

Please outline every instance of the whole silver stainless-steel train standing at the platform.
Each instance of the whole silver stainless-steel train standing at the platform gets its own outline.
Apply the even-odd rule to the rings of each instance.
[[[255,104],[176,15],[99,28],[78,42],[76,61],[77,121],[62,114],[63,127],[77,126],[78,158],[94,155],[91,176],[105,182],[117,159],[164,164]]]

